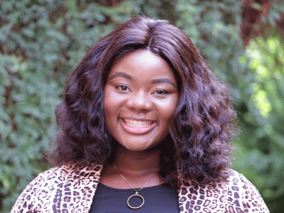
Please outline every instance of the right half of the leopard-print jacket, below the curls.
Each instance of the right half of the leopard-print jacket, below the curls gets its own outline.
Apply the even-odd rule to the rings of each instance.
[[[255,186],[242,174],[228,169],[229,177],[217,185],[182,182],[179,190],[181,212],[191,208],[204,212],[263,212],[268,213],[262,197]]]

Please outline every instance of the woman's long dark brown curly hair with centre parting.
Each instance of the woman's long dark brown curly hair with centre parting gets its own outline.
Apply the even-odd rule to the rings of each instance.
[[[164,181],[177,176],[199,184],[224,180],[236,129],[228,90],[184,32],[168,21],[145,16],[133,17],[100,39],[67,78],[63,100],[55,109],[59,132],[50,161],[103,164],[113,157],[115,144],[104,125],[103,87],[111,65],[140,48],[165,59],[178,85],[179,101],[164,139],[168,145],[161,147]]]

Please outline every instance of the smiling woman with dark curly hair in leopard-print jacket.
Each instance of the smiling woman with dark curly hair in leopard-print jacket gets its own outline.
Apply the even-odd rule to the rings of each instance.
[[[229,169],[235,111],[188,36],[136,16],[93,45],[49,159],[11,212],[269,212]]]

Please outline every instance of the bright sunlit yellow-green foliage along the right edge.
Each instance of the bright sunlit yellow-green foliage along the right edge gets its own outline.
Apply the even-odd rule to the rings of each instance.
[[[238,143],[244,148],[234,165],[264,198],[277,198],[284,192],[283,54],[283,38],[279,36],[256,38],[245,52],[248,58],[245,65],[253,78],[247,80],[242,90],[243,103],[239,109],[243,131]]]

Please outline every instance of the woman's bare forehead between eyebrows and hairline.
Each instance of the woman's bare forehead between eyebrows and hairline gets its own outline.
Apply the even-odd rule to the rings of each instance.
[[[108,78],[116,72],[127,73],[131,76],[168,77],[175,79],[170,65],[158,54],[150,50],[137,49],[119,58],[112,65]]]

